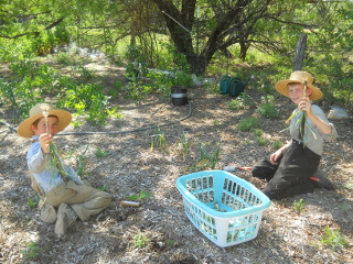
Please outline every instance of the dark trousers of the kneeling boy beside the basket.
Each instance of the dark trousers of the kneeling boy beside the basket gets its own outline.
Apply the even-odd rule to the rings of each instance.
[[[269,180],[264,194],[270,199],[312,193],[314,183],[310,177],[317,172],[320,158],[320,155],[302,143],[293,141],[284,152],[278,165],[272,165],[266,158],[253,166],[252,174]]]

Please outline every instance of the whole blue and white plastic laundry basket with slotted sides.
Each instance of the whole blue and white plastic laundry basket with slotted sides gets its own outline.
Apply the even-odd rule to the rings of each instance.
[[[224,170],[181,176],[176,187],[191,222],[221,248],[255,239],[270,205],[254,185]]]

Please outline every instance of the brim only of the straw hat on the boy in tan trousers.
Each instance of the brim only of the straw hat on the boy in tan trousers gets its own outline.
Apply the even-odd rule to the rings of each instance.
[[[65,110],[49,110],[49,116],[57,117],[57,132],[63,131],[72,120],[71,113]],[[31,125],[40,118],[43,118],[43,113],[36,113],[23,120],[18,127],[18,134],[23,138],[32,138],[33,131],[31,130]]]

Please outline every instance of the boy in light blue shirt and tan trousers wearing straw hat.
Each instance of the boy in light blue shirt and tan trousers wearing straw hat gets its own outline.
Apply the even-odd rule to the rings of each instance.
[[[84,185],[72,167],[55,160],[53,138],[71,120],[69,112],[39,103],[18,128],[19,135],[32,139],[26,157],[32,187],[42,195],[41,219],[55,222],[57,235],[65,234],[77,218],[85,221],[111,201],[110,195]]]

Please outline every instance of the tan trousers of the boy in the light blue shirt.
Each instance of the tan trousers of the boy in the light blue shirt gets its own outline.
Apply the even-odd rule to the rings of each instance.
[[[62,202],[71,205],[82,221],[98,215],[110,205],[110,201],[111,197],[109,194],[87,185],[76,185],[74,182],[63,183],[50,190],[45,196],[45,204],[49,206],[58,207]],[[46,211],[42,210],[41,212],[43,220],[51,218],[46,216],[47,213],[53,213],[53,210]]]

